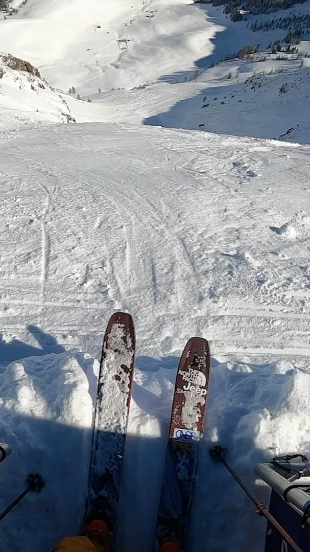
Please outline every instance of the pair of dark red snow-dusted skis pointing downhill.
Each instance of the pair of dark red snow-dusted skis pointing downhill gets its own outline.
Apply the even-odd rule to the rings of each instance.
[[[132,318],[116,312],[106,328],[95,405],[89,516],[108,524],[113,550],[135,363]],[[205,339],[191,338],[181,355],[173,396],[153,552],[184,549],[210,372]]]

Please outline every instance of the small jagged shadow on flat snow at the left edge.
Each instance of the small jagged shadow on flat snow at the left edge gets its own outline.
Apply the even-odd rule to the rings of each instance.
[[[57,343],[57,339],[50,333],[44,332],[41,328],[33,324],[26,326],[26,329],[34,337],[39,347],[35,347],[29,343],[25,343],[14,338],[7,342],[0,333],[0,365],[3,367],[6,367],[10,362],[14,362],[15,360],[19,360],[21,358],[38,357],[42,354],[65,352],[65,348]]]

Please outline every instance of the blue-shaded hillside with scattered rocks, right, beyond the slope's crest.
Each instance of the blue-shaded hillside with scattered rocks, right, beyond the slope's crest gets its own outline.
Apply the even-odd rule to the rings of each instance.
[[[255,57],[202,72],[189,86],[192,97],[148,116],[145,123],[309,143],[310,112],[304,106],[310,97],[310,63],[301,67],[300,61],[278,61],[273,54]]]

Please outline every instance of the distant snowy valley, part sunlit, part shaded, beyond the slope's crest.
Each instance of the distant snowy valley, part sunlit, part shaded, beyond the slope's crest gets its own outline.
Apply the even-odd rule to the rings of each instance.
[[[107,12],[92,0],[85,14],[81,0],[53,0],[44,6],[31,0],[0,20],[3,46],[15,55],[23,52],[52,86],[66,92],[62,101],[76,121],[129,121],[310,141],[310,115],[304,110],[309,95],[307,28],[287,53],[287,29],[271,24],[304,19],[308,2],[276,14],[247,13],[237,23],[222,13],[222,6],[210,4],[143,0],[108,5]],[[263,24],[271,28],[265,30]],[[272,54],[275,43],[281,51]],[[238,59],[237,52],[251,44],[261,52]],[[227,56],[235,57],[221,61]],[[287,90],[279,94],[283,86]],[[27,122],[57,121],[67,114],[65,104],[65,110],[54,109],[30,95],[31,107],[22,115],[13,94],[7,117],[14,114],[14,105],[19,120]]]

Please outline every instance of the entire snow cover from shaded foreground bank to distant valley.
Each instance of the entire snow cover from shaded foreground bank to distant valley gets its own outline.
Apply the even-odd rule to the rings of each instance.
[[[152,550],[192,336],[212,370],[186,550],[262,552],[264,521],[209,449],[226,446],[265,502],[255,463],[310,451],[309,59],[277,60],[264,52],[277,31],[188,0],[3,14],[0,50],[41,76],[0,55],[0,440],[13,447],[0,507],[29,473],[45,487],[1,522],[1,551],[80,532],[103,334],[123,310],[137,358],[115,552]],[[253,43],[255,60],[210,67]]]

